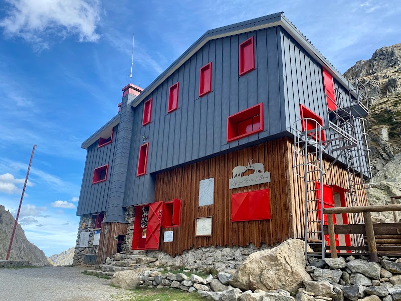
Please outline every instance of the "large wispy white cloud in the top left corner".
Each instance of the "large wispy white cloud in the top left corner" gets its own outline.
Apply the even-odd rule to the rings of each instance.
[[[100,20],[98,0],[6,0],[7,16],[0,20],[7,37],[21,37],[37,50],[49,48],[48,37],[78,36],[96,42]]]

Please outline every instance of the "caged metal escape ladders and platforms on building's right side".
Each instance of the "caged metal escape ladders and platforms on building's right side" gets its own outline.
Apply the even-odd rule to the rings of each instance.
[[[328,110],[328,122],[320,124],[312,118],[301,118],[294,123],[294,173],[304,181],[304,238],[305,246],[314,249],[309,255],[325,258],[325,239],[323,235],[324,208],[323,184],[326,173],[336,162],[345,165],[347,170],[349,204],[359,206],[358,191],[370,186],[372,167],[366,119],[368,113],[366,88],[355,78],[355,87],[348,83],[344,95],[335,89],[335,110]],[[355,97],[356,95],[356,97]],[[344,99],[345,96],[345,99]],[[300,128],[302,124],[302,130]],[[323,157],[332,157],[330,164]],[[358,178],[367,181],[356,181]],[[350,223],[362,223],[360,214],[352,215]],[[352,244],[363,246],[362,235],[353,235]],[[305,247],[305,257],[308,256]]]

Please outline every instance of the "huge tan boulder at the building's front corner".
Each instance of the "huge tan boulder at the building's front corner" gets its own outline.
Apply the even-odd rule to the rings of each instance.
[[[305,242],[288,239],[273,249],[249,255],[229,283],[243,290],[281,288],[297,292],[303,281],[312,280],[305,266]]]

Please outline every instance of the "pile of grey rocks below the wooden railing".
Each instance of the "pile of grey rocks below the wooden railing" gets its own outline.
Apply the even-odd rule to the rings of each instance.
[[[334,300],[398,301],[401,300],[401,258],[383,256],[380,263],[355,259],[309,258],[305,270],[315,281],[304,281],[306,291]],[[309,294],[310,296],[310,294]],[[317,297],[315,297],[317,298]],[[303,296],[303,300],[313,301]]]

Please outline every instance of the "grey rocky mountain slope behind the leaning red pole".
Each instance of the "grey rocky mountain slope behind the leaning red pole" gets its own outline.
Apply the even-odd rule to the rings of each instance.
[[[13,215],[0,205],[0,258],[6,259],[13,232],[15,219]],[[12,260],[30,261],[32,264],[48,265],[45,253],[25,237],[25,232],[18,224],[14,235],[13,246],[10,253]]]

